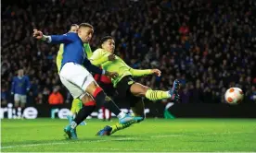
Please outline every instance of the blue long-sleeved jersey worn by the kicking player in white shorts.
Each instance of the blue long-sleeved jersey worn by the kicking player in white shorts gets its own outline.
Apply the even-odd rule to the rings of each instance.
[[[78,65],[84,65],[84,67],[86,67],[89,71],[96,74],[102,74],[103,71],[95,65],[92,65],[87,59],[83,48],[83,41],[80,39],[77,33],[69,32],[63,35],[51,35],[48,42],[65,44],[60,70],[63,65],[71,62]]]

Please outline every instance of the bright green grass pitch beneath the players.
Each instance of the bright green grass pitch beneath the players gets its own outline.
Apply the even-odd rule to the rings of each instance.
[[[98,137],[105,124],[87,120],[78,140],[66,140],[67,120],[2,120],[3,152],[193,152],[256,151],[256,119],[147,119],[111,136]]]

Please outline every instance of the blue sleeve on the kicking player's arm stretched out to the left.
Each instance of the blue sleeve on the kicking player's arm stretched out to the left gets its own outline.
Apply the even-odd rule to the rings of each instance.
[[[55,43],[55,44],[59,44],[59,43],[70,43],[72,41],[75,41],[74,38],[75,33],[66,33],[63,35],[50,35],[47,38],[47,42],[48,43]]]

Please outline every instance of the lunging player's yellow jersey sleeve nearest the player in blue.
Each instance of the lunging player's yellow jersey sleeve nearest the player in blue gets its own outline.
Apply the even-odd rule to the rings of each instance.
[[[90,57],[90,61],[93,65],[100,66],[109,61],[109,53],[103,53],[101,49],[97,49]]]

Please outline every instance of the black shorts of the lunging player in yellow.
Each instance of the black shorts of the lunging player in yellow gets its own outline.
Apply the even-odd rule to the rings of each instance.
[[[131,92],[130,88],[135,83],[132,76],[124,76],[121,81],[117,84],[115,96],[116,101],[128,101],[131,107],[134,107],[134,104],[141,100],[141,97],[136,97]]]

